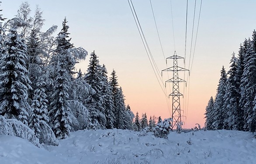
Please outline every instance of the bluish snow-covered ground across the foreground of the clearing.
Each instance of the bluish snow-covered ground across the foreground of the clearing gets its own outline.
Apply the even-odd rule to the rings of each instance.
[[[167,139],[128,130],[76,131],[38,148],[0,135],[0,164],[256,164],[256,138],[242,131],[195,131]]]

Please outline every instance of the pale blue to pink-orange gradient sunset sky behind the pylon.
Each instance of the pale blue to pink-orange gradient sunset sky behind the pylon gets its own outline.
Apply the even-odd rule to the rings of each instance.
[[[3,17],[13,18],[21,2],[22,0],[2,0]],[[174,49],[170,0],[152,0],[166,57],[172,56],[174,50],[177,55],[184,57],[186,2],[172,0]],[[194,32],[200,2],[201,0],[197,0]],[[148,117],[170,117],[165,95],[156,80],[127,0],[28,0],[28,3],[32,10],[31,16],[34,15],[36,4],[44,11],[43,31],[52,25],[58,25],[55,36],[62,28],[62,20],[67,18],[72,43],[76,47],[85,48],[89,54],[95,50],[100,64],[106,65],[109,74],[113,68],[116,70],[119,85],[125,94],[125,103],[130,105],[134,113],[138,111],[140,116],[146,112]],[[159,70],[166,69],[150,1],[133,0],[133,3],[157,67]],[[187,64],[194,3],[194,0],[189,0]],[[188,90],[185,95],[189,101],[187,110],[183,113],[187,116],[186,119],[183,117],[184,127],[194,127],[196,123],[204,126],[205,107],[209,98],[216,94],[222,65],[228,70],[233,51],[237,54],[239,44],[251,37],[252,31],[256,29],[255,6],[256,0],[203,0],[194,63],[190,72],[190,90],[189,95]],[[77,64],[77,70],[81,68],[86,72],[88,63],[89,56]],[[169,61],[169,67],[172,66],[171,63]],[[180,61],[180,66],[184,67],[183,61]],[[183,78],[183,74],[179,75]],[[163,80],[168,80],[167,74],[164,74]],[[180,91],[183,92],[183,86]],[[167,93],[170,94],[169,85]],[[182,108],[185,106],[183,104],[181,100]]]

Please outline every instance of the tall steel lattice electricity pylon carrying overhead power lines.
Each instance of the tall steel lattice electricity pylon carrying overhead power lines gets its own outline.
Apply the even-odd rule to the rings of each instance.
[[[180,113],[180,96],[183,97],[183,94],[180,93],[179,83],[185,82],[185,80],[179,78],[179,71],[189,71],[185,68],[178,66],[178,59],[183,59],[184,57],[177,56],[176,51],[174,51],[173,56],[166,58],[166,64],[167,59],[173,59],[173,67],[166,68],[162,70],[163,71],[173,71],[173,78],[167,80],[166,82],[173,83],[173,92],[169,94],[169,97],[173,97],[173,103],[172,103],[172,119],[173,119],[173,125],[172,129],[177,126],[177,124],[181,123],[181,113]],[[165,82],[165,83],[166,83]]]

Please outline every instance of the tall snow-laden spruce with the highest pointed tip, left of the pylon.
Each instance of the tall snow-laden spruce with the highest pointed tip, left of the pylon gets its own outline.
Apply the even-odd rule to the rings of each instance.
[[[73,68],[76,63],[70,49],[73,44],[68,39],[66,18],[62,22],[62,30],[56,39],[57,47],[52,57],[53,81],[52,102],[49,116],[52,129],[58,139],[66,138],[71,130],[71,110],[69,105],[69,87],[72,80]]]

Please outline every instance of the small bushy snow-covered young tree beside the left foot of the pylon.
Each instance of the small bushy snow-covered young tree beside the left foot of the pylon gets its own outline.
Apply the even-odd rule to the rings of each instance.
[[[167,138],[168,134],[171,131],[171,122],[171,118],[164,119],[163,121],[159,120],[159,123],[157,123],[156,127],[153,130],[154,135],[156,137]]]

